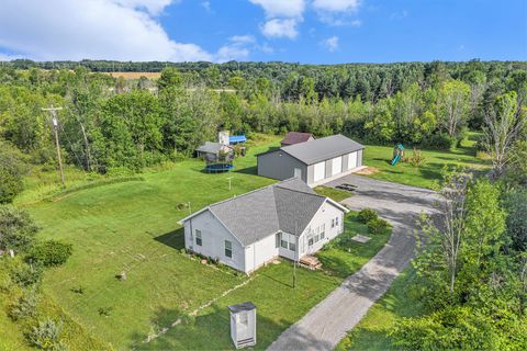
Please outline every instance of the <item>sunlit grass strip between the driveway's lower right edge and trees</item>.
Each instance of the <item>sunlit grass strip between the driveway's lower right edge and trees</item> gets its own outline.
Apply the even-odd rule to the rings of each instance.
[[[403,317],[417,316],[422,306],[408,296],[414,270],[407,268],[393,282],[386,294],[377,302],[365,318],[344,338],[336,350],[397,350],[388,333]]]

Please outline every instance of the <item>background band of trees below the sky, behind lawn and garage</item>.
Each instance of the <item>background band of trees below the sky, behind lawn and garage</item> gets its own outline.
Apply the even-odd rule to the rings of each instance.
[[[18,155],[18,160],[54,167],[52,125],[42,111],[52,103],[63,106],[57,128],[66,162],[99,173],[188,157],[222,128],[249,136],[343,133],[366,143],[448,149],[468,128],[489,129],[490,123],[497,127],[506,120],[507,126],[480,143],[487,149],[501,143],[491,150],[495,159],[505,159],[506,149],[525,137],[525,63],[189,63],[162,68],[159,79],[130,80],[87,68],[102,70],[98,65],[108,63],[54,63],[66,65],[60,69],[41,68],[48,63],[3,63],[2,152],[10,160]],[[500,132],[507,128],[515,132]],[[1,172],[15,178],[16,162],[7,163],[12,166]]]

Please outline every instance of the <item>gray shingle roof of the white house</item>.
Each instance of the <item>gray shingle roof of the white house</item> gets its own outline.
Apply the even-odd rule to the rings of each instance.
[[[212,204],[209,210],[247,246],[278,231],[302,234],[325,200],[293,178]]]

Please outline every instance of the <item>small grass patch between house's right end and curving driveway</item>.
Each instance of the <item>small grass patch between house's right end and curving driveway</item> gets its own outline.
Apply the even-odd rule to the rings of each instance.
[[[324,270],[343,279],[360,270],[375,256],[390,239],[392,233],[391,229],[386,229],[382,234],[369,234],[368,227],[357,220],[356,212],[346,215],[344,223],[345,231],[316,253]],[[371,239],[365,244],[351,240],[358,234]]]

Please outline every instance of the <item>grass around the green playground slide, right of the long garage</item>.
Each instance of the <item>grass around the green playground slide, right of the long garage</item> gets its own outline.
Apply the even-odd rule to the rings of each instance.
[[[391,166],[390,161],[393,156],[393,147],[367,145],[365,149],[365,165],[374,167],[379,172],[370,177],[396,182],[407,185],[431,188],[434,183],[441,179],[441,170],[448,167],[467,167],[475,170],[490,169],[490,161],[475,157],[474,140],[475,133],[470,133],[469,138],[462,143],[461,147],[455,150],[427,150],[423,149],[426,158],[425,165],[422,167],[413,167],[410,162],[399,162]],[[413,150],[406,149],[405,157],[411,157]]]

